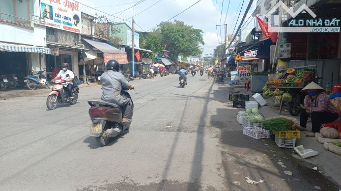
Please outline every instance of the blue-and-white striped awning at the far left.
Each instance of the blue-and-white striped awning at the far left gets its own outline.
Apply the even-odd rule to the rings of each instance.
[[[33,52],[42,54],[51,54],[51,49],[44,47],[34,47],[28,45],[15,45],[9,43],[0,43],[0,51],[6,52]]]

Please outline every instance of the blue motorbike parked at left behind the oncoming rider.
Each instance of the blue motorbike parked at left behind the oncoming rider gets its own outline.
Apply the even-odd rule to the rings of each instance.
[[[50,89],[50,85],[44,75],[44,70],[38,71],[35,75],[27,75],[24,78],[24,83],[26,83],[26,87],[30,90],[44,87]]]

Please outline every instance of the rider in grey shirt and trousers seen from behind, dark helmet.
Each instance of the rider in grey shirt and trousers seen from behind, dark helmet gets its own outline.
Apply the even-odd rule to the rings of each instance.
[[[120,64],[117,60],[109,60],[106,63],[107,71],[101,75],[102,97],[101,100],[120,105],[123,111],[122,121],[131,121],[132,101],[122,96],[122,88],[132,90],[124,75],[119,72]]]

